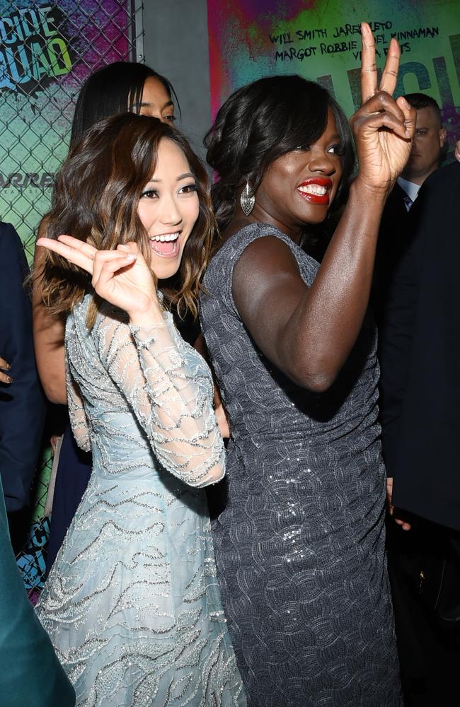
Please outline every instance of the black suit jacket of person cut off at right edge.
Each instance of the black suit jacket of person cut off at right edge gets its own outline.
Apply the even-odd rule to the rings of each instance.
[[[398,508],[460,531],[460,164],[427,180],[410,213],[410,245],[386,305],[382,409]],[[401,336],[401,332],[404,335]],[[398,379],[389,379],[398,358]]]

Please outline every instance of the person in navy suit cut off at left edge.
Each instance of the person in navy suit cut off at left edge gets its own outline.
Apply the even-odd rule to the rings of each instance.
[[[0,223],[0,474],[11,537],[18,549],[30,502],[45,420],[45,398],[33,351],[32,315],[23,245]],[[6,366],[9,368],[6,369]]]

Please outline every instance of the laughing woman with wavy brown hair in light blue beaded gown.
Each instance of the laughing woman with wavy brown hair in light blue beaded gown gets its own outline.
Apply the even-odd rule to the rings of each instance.
[[[43,292],[69,312],[70,418],[93,471],[40,621],[81,707],[245,705],[201,488],[224,474],[212,378],[156,291],[182,261],[164,295],[196,312],[205,170],[171,127],[117,115],[64,163],[45,228]]]

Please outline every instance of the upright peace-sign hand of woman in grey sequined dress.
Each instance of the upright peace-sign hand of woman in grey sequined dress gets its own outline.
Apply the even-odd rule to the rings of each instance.
[[[357,181],[373,192],[388,193],[408,160],[416,112],[403,96],[393,99],[401,55],[398,42],[390,42],[377,86],[374,36],[365,22],[361,34],[362,105],[350,121],[360,163]]]

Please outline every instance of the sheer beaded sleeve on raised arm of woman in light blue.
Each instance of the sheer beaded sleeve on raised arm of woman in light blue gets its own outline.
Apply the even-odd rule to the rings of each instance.
[[[112,314],[112,312],[110,312]],[[116,317],[116,313],[113,312]],[[224,444],[212,408],[212,378],[199,354],[184,354],[171,315],[149,329],[112,316],[93,329],[100,361],[120,388],[163,467],[190,486],[224,476]]]

